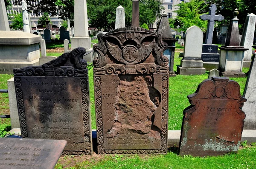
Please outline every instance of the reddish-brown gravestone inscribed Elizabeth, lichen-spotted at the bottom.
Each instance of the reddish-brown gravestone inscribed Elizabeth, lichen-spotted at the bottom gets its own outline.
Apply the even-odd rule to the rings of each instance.
[[[188,96],[191,106],[183,114],[180,155],[212,156],[239,149],[246,101],[237,82],[227,77],[204,80]]]

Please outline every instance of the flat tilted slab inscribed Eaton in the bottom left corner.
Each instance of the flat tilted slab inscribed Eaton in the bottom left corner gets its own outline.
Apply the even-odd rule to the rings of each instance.
[[[65,140],[0,138],[1,169],[54,169]]]

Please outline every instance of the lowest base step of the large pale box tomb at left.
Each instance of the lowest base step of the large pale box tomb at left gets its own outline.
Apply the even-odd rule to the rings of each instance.
[[[31,62],[0,62],[0,74],[13,74],[13,68],[22,68],[38,65],[39,59],[35,59]]]

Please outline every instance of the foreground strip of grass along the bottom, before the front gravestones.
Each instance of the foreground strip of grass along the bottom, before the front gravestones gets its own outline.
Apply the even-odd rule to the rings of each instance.
[[[217,157],[167,155],[97,155],[61,157],[55,169],[255,169],[256,146]]]

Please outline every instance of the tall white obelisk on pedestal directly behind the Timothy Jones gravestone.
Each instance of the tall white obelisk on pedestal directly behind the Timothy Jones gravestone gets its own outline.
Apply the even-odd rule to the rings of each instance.
[[[72,51],[78,47],[84,47],[86,53],[93,51],[88,31],[86,0],[75,0],[74,27],[75,37],[70,39],[71,50],[68,51]],[[84,59],[87,62],[91,62],[93,60],[93,52],[84,56]]]

